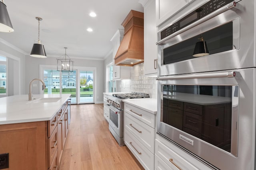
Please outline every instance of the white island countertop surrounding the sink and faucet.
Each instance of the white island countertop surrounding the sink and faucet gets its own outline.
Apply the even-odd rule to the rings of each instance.
[[[47,121],[57,113],[71,94],[34,94],[28,101],[28,94],[0,98],[0,125]],[[57,102],[36,103],[40,98],[60,98]]]

